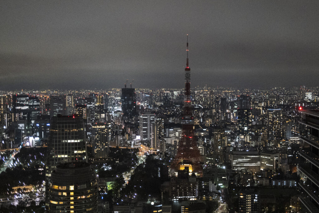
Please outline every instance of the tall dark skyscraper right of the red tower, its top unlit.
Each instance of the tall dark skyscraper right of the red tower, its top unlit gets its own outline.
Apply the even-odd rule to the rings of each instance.
[[[238,134],[244,138],[251,133],[251,99],[249,95],[238,97],[237,115]]]

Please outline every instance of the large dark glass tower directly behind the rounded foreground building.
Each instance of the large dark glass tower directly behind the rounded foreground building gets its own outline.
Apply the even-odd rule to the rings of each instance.
[[[81,117],[55,116],[50,121],[47,148],[46,181],[58,164],[87,162],[85,127]],[[48,185],[47,185],[48,186]]]

